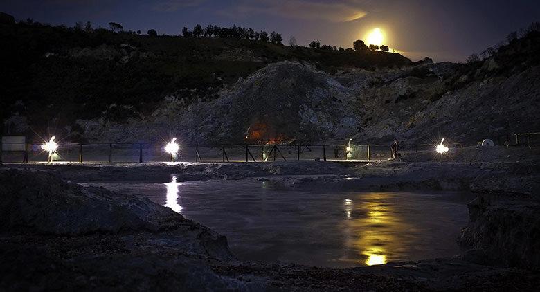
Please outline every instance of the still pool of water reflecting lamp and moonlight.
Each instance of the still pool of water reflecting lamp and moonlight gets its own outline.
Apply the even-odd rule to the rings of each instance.
[[[242,260],[349,267],[449,257],[471,194],[341,192],[273,181],[85,183],[138,194],[225,235]]]

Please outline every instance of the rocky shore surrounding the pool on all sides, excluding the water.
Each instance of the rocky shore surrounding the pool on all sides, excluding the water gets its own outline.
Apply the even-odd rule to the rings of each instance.
[[[0,285],[9,291],[534,290],[540,284],[538,150],[469,147],[443,164],[429,155],[368,165],[7,165],[0,169]],[[225,237],[169,208],[75,183],[168,181],[172,174],[179,181],[279,177],[291,188],[469,190],[478,197],[469,204],[461,255],[340,269],[242,262]]]

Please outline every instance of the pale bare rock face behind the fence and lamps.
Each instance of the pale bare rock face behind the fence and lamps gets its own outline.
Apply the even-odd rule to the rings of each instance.
[[[475,82],[453,76],[455,68],[443,62],[329,75],[311,64],[278,62],[220,89],[215,100],[186,105],[170,95],[146,117],[87,121],[84,136],[132,142],[174,133],[197,143],[243,143],[248,128],[264,125],[264,139],[425,143],[440,135],[460,142],[495,139],[486,134],[537,127],[530,104],[540,102],[538,66]],[[450,91],[449,76],[461,84]]]

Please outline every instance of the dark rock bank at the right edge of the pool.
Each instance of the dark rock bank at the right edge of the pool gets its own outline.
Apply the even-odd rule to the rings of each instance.
[[[540,202],[480,194],[469,203],[459,243],[473,262],[540,271]]]

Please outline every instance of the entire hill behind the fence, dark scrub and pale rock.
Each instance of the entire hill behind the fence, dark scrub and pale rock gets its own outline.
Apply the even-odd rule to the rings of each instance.
[[[198,143],[354,138],[476,143],[537,131],[540,34],[467,64],[4,24],[5,131]],[[9,39],[9,41],[7,41]]]

